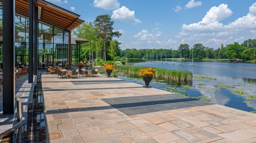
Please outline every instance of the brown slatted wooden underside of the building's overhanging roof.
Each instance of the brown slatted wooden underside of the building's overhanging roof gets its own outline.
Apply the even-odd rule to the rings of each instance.
[[[16,13],[29,16],[29,0],[16,0]],[[36,0],[38,7],[38,19],[45,23],[52,24],[64,30],[73,30],[84,20],[79,19],[80,15],[68,11],[45,0]]]

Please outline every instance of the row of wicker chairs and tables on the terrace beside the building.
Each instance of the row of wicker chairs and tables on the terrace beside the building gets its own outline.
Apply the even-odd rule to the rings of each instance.
[[[47,73],[56,73],[58,74],[58,78],[63,76],[65,78],[78,78],[79,77],[95,77],[98,76],[98,69],[85,70],[85,69],[75,69],[75,70],[67,70],[62,68],[55,67],[47,67]]]

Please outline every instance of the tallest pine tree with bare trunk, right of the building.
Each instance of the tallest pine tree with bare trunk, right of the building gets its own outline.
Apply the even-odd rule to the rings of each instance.
[[[103,60],[106,61],[106,42],[113,37],[121,36],[121,33],[118,31],[113,32],[114,21],[111,21],[110,15],[108,14],[98,15],[94,23],[98,31],[98,37],[103,39]]]

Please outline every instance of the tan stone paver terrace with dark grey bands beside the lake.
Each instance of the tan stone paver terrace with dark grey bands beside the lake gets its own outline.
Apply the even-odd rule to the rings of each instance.
[[[256,114],[114,77],[42,75],[50,142],[256,142]]]

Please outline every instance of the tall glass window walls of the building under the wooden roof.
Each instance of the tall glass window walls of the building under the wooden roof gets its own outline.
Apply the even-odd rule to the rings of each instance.
[[[16,64],[29,61],[29,18],[16,14],[15,17]],[[38,24],[38,68],[61,66],[67,63],[69,33],[58,27],[39,21]],[[0,10],[0,61],[2,62],[2,10]]]

